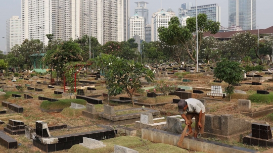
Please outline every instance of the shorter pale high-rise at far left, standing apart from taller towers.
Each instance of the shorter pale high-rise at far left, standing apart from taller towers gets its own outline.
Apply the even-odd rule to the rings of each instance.
[[[12,16],[6,21],[6,54],[11,51],[11,48],[22,42],[22,21],[18,16]]]

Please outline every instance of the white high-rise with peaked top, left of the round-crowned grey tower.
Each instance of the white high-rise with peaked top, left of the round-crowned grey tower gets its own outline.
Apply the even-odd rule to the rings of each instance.
[[[139,35],[142,40],[145,40],[144,17],[139,16],[136,12],[128,20],[128,38],[134,35]]]

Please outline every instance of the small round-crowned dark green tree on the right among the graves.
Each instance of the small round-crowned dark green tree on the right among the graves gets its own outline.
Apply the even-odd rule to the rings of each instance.
[[[228,87],[225,87],[226,93],[230,95],[234,93],[235,87],[232,84],[240,83],[243,79],[243,68],[240,67],[240,63],[223,59],[216,64],[214,68],[214,78],[228,83]]]

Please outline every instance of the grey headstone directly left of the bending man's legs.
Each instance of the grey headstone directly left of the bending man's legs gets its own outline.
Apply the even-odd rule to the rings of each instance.
[[[182,133],[182,124],[180,122],[179,118],[175,117],[167,117],[167,129],[166,131],[172,132],[172,133]]]

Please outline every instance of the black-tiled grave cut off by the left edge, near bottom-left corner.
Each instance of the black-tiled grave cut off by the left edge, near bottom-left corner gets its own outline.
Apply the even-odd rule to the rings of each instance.
[[[17,140],[2,131],[0,131],[0,145],[3,145],[8,149],[17,149],[18,147]]]

